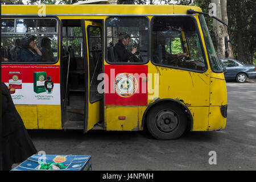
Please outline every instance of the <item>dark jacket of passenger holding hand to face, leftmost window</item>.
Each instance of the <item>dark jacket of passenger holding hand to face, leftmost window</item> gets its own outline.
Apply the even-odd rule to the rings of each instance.
[[[18,60],[22,62],[38,62],[42,59],[42,56],[38,55],[38,53],[32,49],[34,53],[28,51],[28,49],[21,48],[18,53]]]

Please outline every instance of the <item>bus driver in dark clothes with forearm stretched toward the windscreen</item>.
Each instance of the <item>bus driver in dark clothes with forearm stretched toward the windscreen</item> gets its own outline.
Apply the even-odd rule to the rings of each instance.
[[[160,64],[164,64],[166,60],[174,61],[180,57],[187,56],[187,53],[178,53],[177,55],[172,55],[166,51],[166,38],[164,36],[159,37],[159,43],[157,47],[157,55],[160,61]]]

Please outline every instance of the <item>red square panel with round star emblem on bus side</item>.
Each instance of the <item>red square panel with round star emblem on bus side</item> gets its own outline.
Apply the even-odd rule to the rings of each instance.
[[[105,65],[105,105],[147,105],[147,65]]]

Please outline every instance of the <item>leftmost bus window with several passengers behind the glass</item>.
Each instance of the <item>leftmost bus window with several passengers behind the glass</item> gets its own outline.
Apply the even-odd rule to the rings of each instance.
[[[2,22],[2,28],[2,63],[36,64],[57,61],[56,19],[9,19]]]

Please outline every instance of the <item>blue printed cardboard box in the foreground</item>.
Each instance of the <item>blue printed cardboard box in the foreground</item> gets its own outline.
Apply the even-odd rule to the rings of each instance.
[[[90,155],[44,155],[46,163],[62,163],[67,168],[65,169],[38,169],[39,161],[42,161],[42,155],[32,155],[19,166],[11,171],[91,171],[92,164]]]

